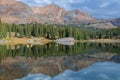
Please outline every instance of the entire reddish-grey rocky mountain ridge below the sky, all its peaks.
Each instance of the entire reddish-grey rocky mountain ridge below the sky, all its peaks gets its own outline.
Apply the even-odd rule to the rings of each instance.
[[[80,10],[66,11],[55,4],[44,7],[30,7],[16,0],[1,0],[0,18],[8,23],[39,23],[75,24],[81,21],[95,20]]]

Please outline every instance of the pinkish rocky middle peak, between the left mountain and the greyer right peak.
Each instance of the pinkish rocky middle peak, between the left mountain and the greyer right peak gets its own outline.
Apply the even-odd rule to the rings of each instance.
[[[65,9],[51,4],[45,7],[31,7],[33,12],[45,23],[63,23]]]

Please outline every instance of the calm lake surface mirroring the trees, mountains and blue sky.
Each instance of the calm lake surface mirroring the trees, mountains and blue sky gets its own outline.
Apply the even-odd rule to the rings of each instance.
[[[120,80],[120,44],[0,45],[0,80]]]

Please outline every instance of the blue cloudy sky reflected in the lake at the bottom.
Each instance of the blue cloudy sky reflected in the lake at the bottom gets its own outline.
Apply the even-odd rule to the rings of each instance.
[[[44,74],[29,74],[20,80],[120,80],[120,64],[98,62],[81,71],[66,70],[50,77]]]

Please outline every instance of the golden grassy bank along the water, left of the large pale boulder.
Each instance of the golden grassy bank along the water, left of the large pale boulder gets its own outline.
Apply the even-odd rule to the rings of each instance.
[[[50,39],[46,39],[44,37],[41,38],[11,38],[11,39],[0,39],[0,44],[13,44],[13,45],[19,45],[19,44],[23,44],[23,45],[27,45],[27,44],[32,44],[32,45],[45,45],[48,43],[51,43],[52,40]]]

